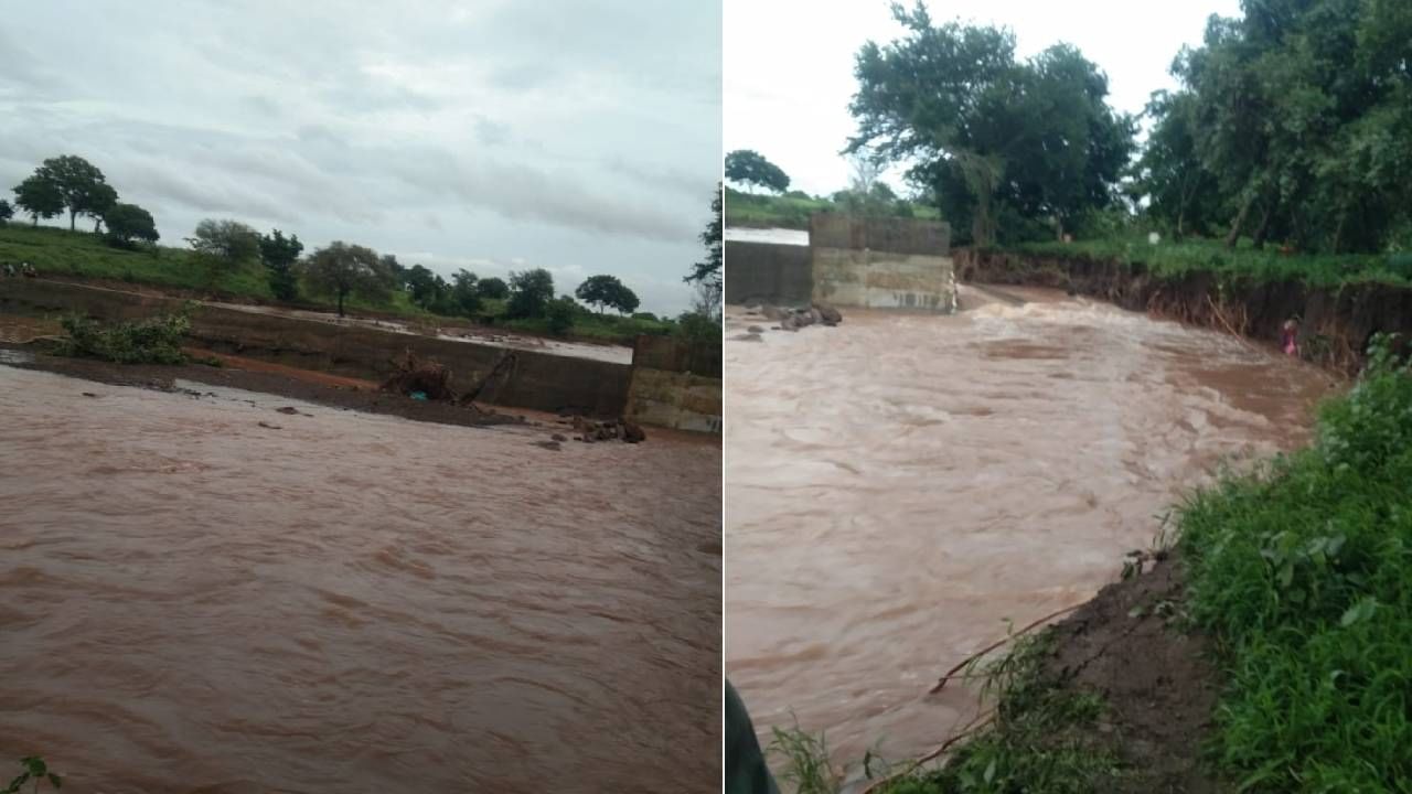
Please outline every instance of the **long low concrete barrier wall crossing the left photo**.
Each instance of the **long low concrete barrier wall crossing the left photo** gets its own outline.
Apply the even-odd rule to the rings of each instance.
[[[181,301],[61,281],[0,281],[0,309],[79,312],[116,322],[171,312]],[[192,316],[191,336],[208,348],[277,363],[383,380],[407,349],[452,372],[452,389],[467,390],[510,353],[505,348],[397,333],[356,325],[335,325],[222,307],[202,307]],[[508,376],[490,384],[481,400],[541,411],[578,411],[616,418],[627,407],[633,367],[627,365],[513,350]]]

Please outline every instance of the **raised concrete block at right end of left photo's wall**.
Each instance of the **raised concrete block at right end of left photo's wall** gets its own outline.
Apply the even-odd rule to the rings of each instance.
[[[626,415],[642,424],[720,434],[720,343],[638,336]]]

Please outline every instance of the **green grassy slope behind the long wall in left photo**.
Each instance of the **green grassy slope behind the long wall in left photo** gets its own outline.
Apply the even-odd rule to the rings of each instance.
[[[120,250],[104,244],[96,235],[52,226],[31,227],[18,223],[0,226],[0,263],[4,261],[17,266],[28,261],[41,275],[148,285],[217,300],[277,302],[270,292],[267,271],[258,261],[212,270],[186,249],[161,246],[141,251]],[[308,292],[301,290],[301,294]],[[394,291],[387,302],[350,297],[346,304],[356,312],[387,314],[426,322],[467,322],[467,318],[439,318],[415,305],[404,291]],[[301,301],[301,307],[328,311],[333,311],[333,301],[316,297]],[[503,301],[486,301],[477,319],[521,333],[551,335],[548,321],[544,318],[507,319]],[[582,309],[575,314],[569,338],[631,343],[638,335],[666,335],[676,328],[678,324],[671,319],[599,315]]]

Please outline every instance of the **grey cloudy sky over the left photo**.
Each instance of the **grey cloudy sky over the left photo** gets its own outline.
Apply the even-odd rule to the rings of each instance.
[[[79,154],[167,244],[202,218],[690,304],[722,153],[700,0],[48,0],[0,16],[0,186]],[[13,198],[13,196],[10,196]]]

